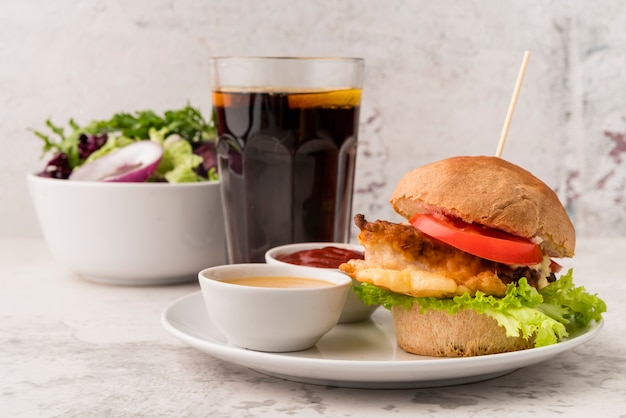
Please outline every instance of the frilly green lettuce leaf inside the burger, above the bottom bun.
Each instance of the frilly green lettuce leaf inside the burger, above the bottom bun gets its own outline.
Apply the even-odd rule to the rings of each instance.
[[[597,295],[574,285],[571,269],[539,291],[522,278],[517,284],[507,285],[501,298],[482,292],[473,297],[466,293],[449,299],[415,298],[368,283],[355,286],[354,290],[366,305],[380,304],[386,309],[410,309],[415,303],[422,312],[435,309],[454,314],[460,309],[473,309],[495,319],[509,337],[529,338],[534,334],[535,347],[556,344],[575,335],[592,321],[600,321],[606,312],[606,304]]]

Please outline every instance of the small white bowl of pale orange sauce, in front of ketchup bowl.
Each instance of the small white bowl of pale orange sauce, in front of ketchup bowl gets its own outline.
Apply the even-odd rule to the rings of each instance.
[[[323,280],[323,287],[244,286],[224,280],[289,277]],[[313,347],[337,323],[351,280],[324,269],[263,263],[211,267],[198,274],[211,321],[229,343],[255,351],[286,352]]]

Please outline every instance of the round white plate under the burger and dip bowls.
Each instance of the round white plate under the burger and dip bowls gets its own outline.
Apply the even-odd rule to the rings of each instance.
[[[396,344],[389,311],[371,319],[337,325],[312,349],[264,353],[230,345],[211,322],[200,292],[167,307],[165,329],[214,357],[283,379],[350,388],[423,388],[457,385],[502,376],[548,360],[591,340],[600,322],[584,333],[547,347],[465,358],[436,358],[405,353]]]

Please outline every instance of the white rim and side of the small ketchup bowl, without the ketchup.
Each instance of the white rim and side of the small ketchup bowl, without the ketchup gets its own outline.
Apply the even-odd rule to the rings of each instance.
[[[298,251],[305,250],[313,250],[324,247],[338,247],[343,249],[348,249],[357,252],[363,252],[363,247],[361,245],[356,244],[345,244],[345,243],[336,243],[336,242],[306,242],[306,243],[298,243],[298,244],[287,244],[281,245],[279,247],[274,247],[269,249],[265,253],[265,261],[268,264],[286,264],[284,261],[278,259],[281,255],[292,254]],[[309,268],[319,268],[319,267],[309,267]],[[328,268],[322,270],[333,270],[339,271],[335,268]],[[359,286],[360,283],[356,280],[353,280],[353,284],[355,286]],[[350,289],[348,292],[348,297],[346,298],[345,306],[341,312],[341,316],[339,317],[340,324],[348,324],[352,322],[359,322],[368,319],[372,313],[378,308],[378,305],[365,305],[359,296],[354,292],[353,289]]]

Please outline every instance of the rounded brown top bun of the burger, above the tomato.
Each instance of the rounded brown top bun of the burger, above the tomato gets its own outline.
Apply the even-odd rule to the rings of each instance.
[[[391,197],[410,219],[442,214],[538,243],[550,257],[572,257],[574,226],[556,193],[530,172],[502,158],[463,156],[405,174]]]

